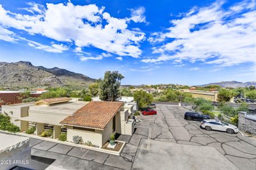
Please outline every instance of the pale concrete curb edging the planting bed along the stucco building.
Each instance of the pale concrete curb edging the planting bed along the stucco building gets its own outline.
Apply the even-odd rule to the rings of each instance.
[[[8,134],[14,134],[14,135],[20,135],[20,136],[28,137],[28,138],[41,139],[41,140],[43,140],[43,141],[55,142],[55,143],[59,143],[59,144],[63,144],[63,145],[69,145],[69,146],[74,146],[74,147],[85,148],[85,149],[88,149],[88,150],[93,150],[93,151],[98,151],[98,152],[104,152],[104,153],[106,153],[106,154],[112,154],[112,155],[117,155],[117,156],[120,156],[121,152],[123,151],[123,148],[124,148],[125,145],[126,145],[126,142],[115,140],[115,141],[117,141],[117,142],[122,142],[122,143],[123,143],[122,147],[121,147],[120,150],[117,152],[117,151],[110,151],[110,150],[105,150],[105,149],[97,148],[97,147],[91,147],[91,146],[85,146],[85,145],[75,144],[75,143],[71,143],[71,142],[58,141],[58,140],[56,140],[56,139],[51,139],[51,138],[38,137],[38,136],[36,136],[36,135],[24,134],[24,133],[20,133],[20,132],[12,133],[12,132],[3,131],[3,130],[0,130],[0,132],[8,133]]]

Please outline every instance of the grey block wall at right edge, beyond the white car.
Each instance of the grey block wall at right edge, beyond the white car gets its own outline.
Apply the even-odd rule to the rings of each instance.
[[[245,117],[246,112],[238,113],[238,129],[256,135],[256,120]]]

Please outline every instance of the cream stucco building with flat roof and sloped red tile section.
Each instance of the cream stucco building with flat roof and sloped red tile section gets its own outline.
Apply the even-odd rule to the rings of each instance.
[[[112,133],[132,135],[134,120],[129,119],[133,105],[120,101],[78,101],[68,97],[43,99],[36,103],[13,104],[2,107],[2,113],[25,131],[36,127],[35,135],[52,129],[53,138],[67,132],[67,141],[79,135],[84,142],[103,146]]]

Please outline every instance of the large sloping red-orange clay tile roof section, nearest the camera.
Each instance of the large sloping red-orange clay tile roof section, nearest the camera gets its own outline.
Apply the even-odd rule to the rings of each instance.
[[[90,101],[60,124],[103,130],[122,106],[117,101]]]

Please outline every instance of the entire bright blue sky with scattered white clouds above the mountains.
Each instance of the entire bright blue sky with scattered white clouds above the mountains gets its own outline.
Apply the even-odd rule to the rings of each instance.
[[[122,84],[255,81],[255,3],[0,0],[0,61]]]

